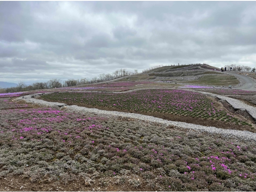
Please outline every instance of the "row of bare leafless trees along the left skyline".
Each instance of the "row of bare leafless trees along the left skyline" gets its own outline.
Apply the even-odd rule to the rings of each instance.
[[[134,70],[134,72],[137,73],[138,70]],[[115,70],[112,74],[110,73],[99,74],[98,77],[94,77],[91,80],[87,78],[68,79],[68,80],[61,80],[61,79],[55,78],[55,79],[48,80],[47,82],[35,82],[29,86],[26,85],[24,82],[20,81],[18,82],[18,85],[16,87],[0,89],[0,93],[13,93],[13,92],[20,92],[20,91],[32,91],[32,90],[40,90],[40,89],[78,86],[78,85],[88,84],[91,81],[105,80],[105,79],[117,78],[119,76],[126,76],[130,73],[131,72],[129,72],[126,69],[119,69],[119,70]]]

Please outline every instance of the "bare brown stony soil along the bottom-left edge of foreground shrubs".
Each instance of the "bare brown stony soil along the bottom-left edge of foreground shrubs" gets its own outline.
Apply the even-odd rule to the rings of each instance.
[[[139,179],[141,186],[136,189],[127,183],[115,184],[116,178],[113,176],[103,179],[96,178],[95,183],[90,184],[80,178],[65,185],[60,181],[49,182],[47,178],[41,178],[40,182],[31,182],[30,178],[25,178],[23,175],[12,175],[0,178],[0,191],[152,191],[140,176],[130,175],[126,177]],[[103,183],[102,180],[106,183]]]

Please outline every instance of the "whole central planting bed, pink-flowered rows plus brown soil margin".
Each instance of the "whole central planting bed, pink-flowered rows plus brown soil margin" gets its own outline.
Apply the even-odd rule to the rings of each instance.
[[[204,94],[188,90],[137,90],[126,93],[60,92],[41,96],[43,100],[103,110],[135,112],[176,120],[255,132],[246,119],[215,104]],[[207,120],[206,120],[207,119]],[[241,126],[242,125],[242,126]]]

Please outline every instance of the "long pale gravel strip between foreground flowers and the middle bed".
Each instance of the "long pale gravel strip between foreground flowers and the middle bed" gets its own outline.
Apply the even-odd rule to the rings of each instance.
[[[229,129],[221,129],[216,127],[207,127],[202,125],[196,125],[191,123],[185,123],[185,122],[176,122],[176,121],[168,121],[163,120],[161,118],[156,118],[152,116],[142,115],[142,114],[135,114],[135,113],[126,113],[126,112],[117,112],[117,111],[106,111],[106,110],[99,110],[95,108],[86,108],[86,107],[80,107],[76,105],[68,106],[64,103],[58,103],[58,102],[47,102],[44,100],[36,99],[36,96],[42,95],[45,93],[40,94],[32,94],[27,96],[22,96],[17,98],[16,100],[24,100],[29,103],[34,103],[39,106],[44,107],[51,107],[54,108],[56,106],[60,107],[61,109],[68,110],[69,112],[76,112],[76,113],[82,113],[82,114],[93,114],[97,116],[104,116],[104,117],[112,117],[112,118],[133,118],[141,121],[146,121],[149,123],[158,123],[162,124],[164,126],[176,126],[178,128],[183,129],[190,129],[195,130],[198,132],[206,132],[210,134],[220,134],[224,136],[225,138],[234,138],[234,139],[240,139],[244,141],[254,141],[256,142],[256,134],[248,131],[240,131],[240,130],[229,130]],[[47,93],[49,94],[49,93]]]

